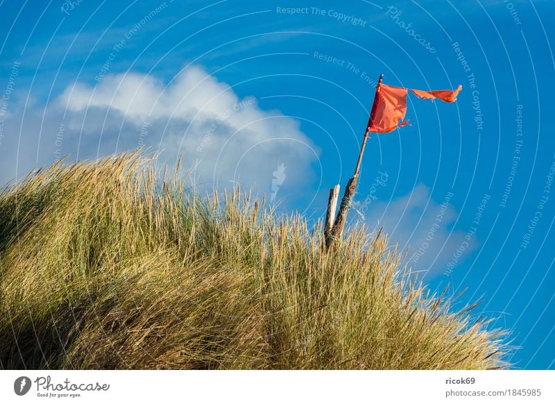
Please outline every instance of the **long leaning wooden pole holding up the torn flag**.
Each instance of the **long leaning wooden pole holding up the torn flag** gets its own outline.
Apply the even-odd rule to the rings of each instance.
[[[329,247],[333,240],[336,238],[341,238],[343,234],[343,228],[345,228],[345,223],[347,221],[347,214],[352,203],[352,199],[355,196],[355,191],[357,190],[357,181],[359,179],[360,165],[362,162],[362,155],[364,154],[364,149],[366,148],[366,140],[368,140],[368,133],[370,133],[370,126],[373,124],[373,119],[375,116],[375,111],[377,107],[377,97],[379,93],[379,87],[382,86],[383,74],[379,75],[379,79],[376,85],[376,92],[374,94],[374,102],[372,104],[372,110],[370,110],[370,118],[368,119],[368,125],[366,126],[366,131],[364,132],[364,140],[362,141],[362,146],[360,148],[359,160],[357,161],[357,167],[355,168],[355,174],[347,183],[345,187],[345,192],[343,193],[343,198],[341,199],[341,205],[339,205],[339,212],[337,212],[337,217],[335,219],[334,226],[330,232],[330,237],[326,238],[326,246]]]

